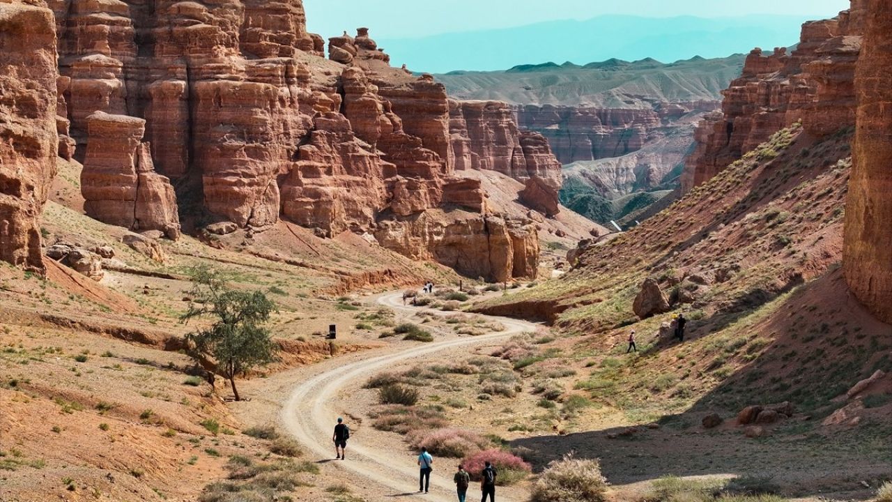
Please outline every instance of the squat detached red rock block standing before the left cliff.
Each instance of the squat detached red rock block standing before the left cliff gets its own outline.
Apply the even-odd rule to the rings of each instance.
[[[161,230],[179,238],[177,197],[170,180],[154,172],[145,121],[96,112],[87,117],[87,156],[80,176],[84,210],[128,230]]]

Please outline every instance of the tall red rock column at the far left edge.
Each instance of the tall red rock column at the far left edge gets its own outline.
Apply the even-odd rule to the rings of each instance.
[[[0,260],[41,271],[39,218],[59,147],[55,42],[48,9],[0,3]]]

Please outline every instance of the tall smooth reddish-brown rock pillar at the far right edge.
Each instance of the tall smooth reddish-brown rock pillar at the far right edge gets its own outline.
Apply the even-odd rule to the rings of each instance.
[[[868,2],[865,21],[844,267],[855,296],[892,323],[892,3]]]

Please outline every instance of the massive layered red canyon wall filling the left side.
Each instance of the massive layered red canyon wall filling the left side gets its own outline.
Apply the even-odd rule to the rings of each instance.
[[[531,204],[557,212],[543,199],[560,165],[507,105],[450,103],[430,75],[392,68],[368,29],[330,38],[326,59],[301,0],[47,4],[0,4],[4,88],[20,92],[2,97],[4,260],[39,266],[58,153],[84,164],[87,214],[130,230],[178,238],[180,208],[189,229],[286,218],[475,276],[535,275],[535,226],[491,214],[480,181],[460,175],[535,178],[549,189]]]

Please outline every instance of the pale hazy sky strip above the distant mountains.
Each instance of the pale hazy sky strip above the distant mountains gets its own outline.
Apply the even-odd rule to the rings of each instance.
[[[601,14],[648,17],[772,13],[832,17],[847,0],[304,0],[310,31],[323,37],[372,29],[373,38],[497,29],[540,21],[586,20]]]

